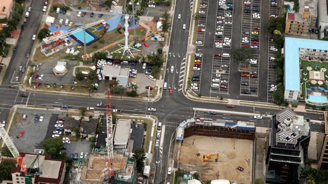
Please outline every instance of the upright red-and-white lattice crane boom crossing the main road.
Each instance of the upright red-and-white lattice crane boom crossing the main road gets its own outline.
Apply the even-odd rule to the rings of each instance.
[[[106,108],[106,122],[107,122],[107,167],[108,178],[114,175],[113,164],[113,119],[112,119],[112,106],[111,106],[111,90],[107,89],[107,108]]]

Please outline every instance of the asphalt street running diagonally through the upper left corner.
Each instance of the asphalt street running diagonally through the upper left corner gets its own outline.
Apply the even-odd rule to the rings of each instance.
[[[17,76],[18,81],[21,80],[23,73],[19,71],[19,66],[26,65],[28,61],[26,53],[30,52],[30,55],[32,53],[31,48],[34,43],[32,36],[37,35],[37,31],[40,26],[41,18],[43,16],[43,1],[42,3],[40,3],[40,1],[32,1],[31,7],[32,11],[27,18],[24,30],[22,30],[19,36],[18,42],[16,44],[16,51],[14,52],[10,64],[6,70],[4,80],[2,82],[3,84],[11,84],[11,81],[15,81],[15,77]],[[18,27],[20,27],[20,25]]]

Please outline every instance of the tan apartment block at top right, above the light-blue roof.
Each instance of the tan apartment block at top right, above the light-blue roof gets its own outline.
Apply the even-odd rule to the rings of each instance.
[[[316,26],[317,6],[315,0],[300,0],[299,11],[287,13],[286,34],[306,35]]]

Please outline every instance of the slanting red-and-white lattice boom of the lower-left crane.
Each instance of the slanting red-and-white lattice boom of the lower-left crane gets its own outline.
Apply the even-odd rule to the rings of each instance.
[[[0,136],[3,138],[5,144],[7,145],[9,151],[12,153],[14,158],[16,159],[16,162],[19,166],[24,170],[25,174],[27,174],[27,168],[26,164],[23,160],[23,156],[18,152],[13,140],[9,137],[5,127],[0,126]]]

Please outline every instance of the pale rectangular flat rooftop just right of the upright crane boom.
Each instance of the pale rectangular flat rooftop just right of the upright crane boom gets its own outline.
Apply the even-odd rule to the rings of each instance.
[[[127,144],[130,138],[131,120],[119,119],[116,123],[114,144]]]

